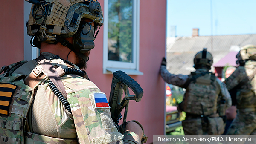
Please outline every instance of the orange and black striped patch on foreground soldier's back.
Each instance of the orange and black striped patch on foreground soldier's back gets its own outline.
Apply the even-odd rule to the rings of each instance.
[[[15,84],[0,83],[0,115],[9,115],[12,96],[17,87]]]

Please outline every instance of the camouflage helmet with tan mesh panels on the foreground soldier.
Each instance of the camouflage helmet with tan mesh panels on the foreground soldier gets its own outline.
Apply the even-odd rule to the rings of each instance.
[[[72,37],[78,31],[82,18],[94,21],[94,31],[104,23],[102,9],[97,0],[40,1],[41,5],[32,5],[27,23],[28,35],[36,36],[39,42],[54,43],[54,35]]]

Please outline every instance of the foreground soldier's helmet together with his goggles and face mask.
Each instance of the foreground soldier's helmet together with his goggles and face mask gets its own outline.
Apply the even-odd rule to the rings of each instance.
[[[40,48],[42,42],[67,46],[76,54],[94,48],[95,31],[103,25],[103,14],[97,0],[26,0],[33,3],[27,33],[32,36],[31,45]],[[94,22],[82,21],[88,18]],[[81,22],[82,21],[82,22]],[[97,31],[99,32],[99,31]],[[73,45],[64,38],[74,36]]]

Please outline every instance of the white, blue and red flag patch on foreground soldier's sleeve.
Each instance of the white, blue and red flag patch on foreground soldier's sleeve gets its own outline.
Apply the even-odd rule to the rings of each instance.
[[[103,92],[93,92],[95,108],[110,108],[106,94]]]

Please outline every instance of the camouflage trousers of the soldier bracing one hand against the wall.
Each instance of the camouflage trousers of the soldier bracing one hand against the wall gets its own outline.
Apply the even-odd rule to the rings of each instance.
[[[201,118],[186,118],[182,121],[185,135],[219,135],[224,132],[224,122],[221,117],[210,118],[202,123]]]

